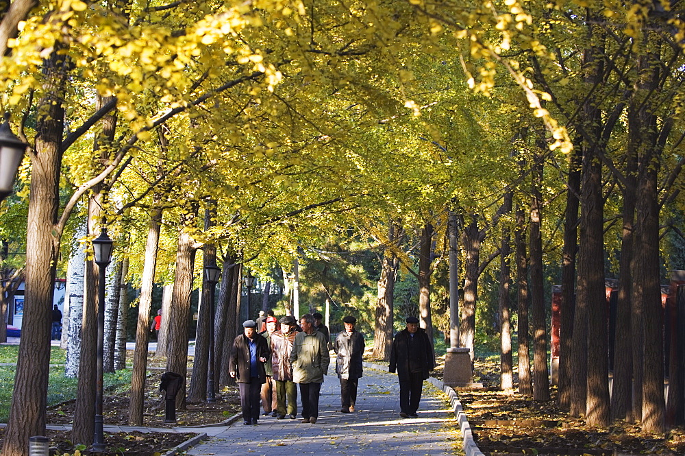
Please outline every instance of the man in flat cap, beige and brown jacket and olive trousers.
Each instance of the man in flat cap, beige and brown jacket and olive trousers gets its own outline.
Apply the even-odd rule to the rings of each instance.
[[[290,352],[295,342],[297,328],[295,317],[286,315],[280,320],[281,329],[271,334],[271,372],[276,384],[276,412],[277,418],[291,420],[297,416],[297,385],[292,381],[292,363]]]

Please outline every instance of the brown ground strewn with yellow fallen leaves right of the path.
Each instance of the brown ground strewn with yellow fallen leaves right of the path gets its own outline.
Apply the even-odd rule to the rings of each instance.
[[[666,435],[643,433],[636,424],[620,422],[606,429],[586,426],[549,402],[498,391],[493,361],[477,361],[475,378],[486,386],[458,392],[478,446],[490,455],[682,455],[685,431]]]

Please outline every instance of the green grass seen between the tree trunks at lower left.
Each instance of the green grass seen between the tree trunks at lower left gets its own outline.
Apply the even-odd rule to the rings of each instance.
[[[14,389],[14,366],[0,366],[0,422],[6,423],[10,414],[10,402]],[[64,368],[50,368],[47,389],[47,405],[62,403],[76,398],[78,379],[64,376]],[[131,370],[119,370],[104,374],[103,386],[107,391],[127,390],[131,385]]]

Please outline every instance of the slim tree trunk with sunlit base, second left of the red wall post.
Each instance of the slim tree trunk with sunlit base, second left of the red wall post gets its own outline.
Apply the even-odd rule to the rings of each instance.
[[[523,208],[516,209],[516,230],[514,231],[516,244],[516,282],[518,283],[517,307],[519,321],[516,335],[519,338],[519,393],[525,396],[533,395],[533,382],[530,377],[530,339],[528,338],[528,263],[525,241],[525,213]]]

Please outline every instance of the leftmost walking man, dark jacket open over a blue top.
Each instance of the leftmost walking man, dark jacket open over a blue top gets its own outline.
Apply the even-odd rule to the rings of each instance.
[[[257,334],[257,324],[247,320],[242,324],[245,333],[233,341],[228,364],[229,374],[238,380],[240,406],[245,424],[257,424],[260,409],[260,391],[266,382],[264,363],[271,355],[266,339]]]

